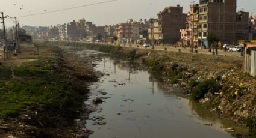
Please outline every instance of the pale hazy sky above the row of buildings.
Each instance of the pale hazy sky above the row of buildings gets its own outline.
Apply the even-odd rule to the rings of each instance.
[[[0,11],[4,11],[8,16],[19,17],[27,14],[42,13],[45,10],[60,10],[103,1],[108,0],[1,0]],[[198,1],[195,0],[195,2]],[[189,0],[117,0],[107,4],[24,17],[18,20],[21,25],[49,26],[85,18],[87,21],[96,23],[96,25],[112,25],[125,22],[127,19],[155,18],[157,13],[162,11],[164,7],[176,6],[177,4],[183,6],[183,12],[187,13],[190,2]],[[255,6],[255,0],[237,0],[237,10],[242,8],[245,11],[251,10]],[[253,12],[256,14],[256,10]],[[10,19],[6,23],[7,26],[13,26]]]

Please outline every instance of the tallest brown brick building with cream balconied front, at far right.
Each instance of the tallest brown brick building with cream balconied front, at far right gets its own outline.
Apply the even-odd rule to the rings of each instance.
[[[201,1],[198,24],[203,37],[202,42],[207,44],[206,37],[209,33],[216,34],[222,43],[248,40],[249,13],[243,11],[237,13],[236,7],[236,0]]]

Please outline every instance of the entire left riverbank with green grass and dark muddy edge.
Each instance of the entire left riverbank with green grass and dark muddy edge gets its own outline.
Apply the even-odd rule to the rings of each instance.
[[[92,65],[51,45],[21,48],[0,67],[0,137],[87,137],[75,119],[90,112]]]

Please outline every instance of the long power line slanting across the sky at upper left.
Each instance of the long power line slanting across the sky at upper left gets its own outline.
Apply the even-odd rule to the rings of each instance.
[[[25,15],[25,16],[19,16],[19,17],[17,17],[17,18],[21,18],[21,17],[30,17],[30,16],[37,16],[37,15],[48,14],[48,13],[57,13],[57,12],[60,12],[60,11],[73,10],[73,9],[76,9],[76,8],[89,7],[89,6],[92,6],[92,5],[106,4],[106,3],[114,2],[114,1],[117,1],[117,0],[104,1],[104,2],[97,2],[97,3],[94,3],[94,4],[82,5],[82,6],[71,7],[71,8],[63,8],[63,9],[60,9],[60,10],[46,11],[46,12],[43,12],[43,13],[28,14],[28,15]]]

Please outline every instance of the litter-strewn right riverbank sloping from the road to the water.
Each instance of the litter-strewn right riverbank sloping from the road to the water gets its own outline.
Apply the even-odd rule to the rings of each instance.
[[[66,45],[65,43],[63,43]],[[164,52],[99,44],[68,43],[110,53],[115,58],[139,62],[166,77],[166,81],[186,89],[185,95],[205,109],[256,129],[256,79],[242,72],[242,58],[180,52]],[[234,130],[236,131],[236,130]]]

